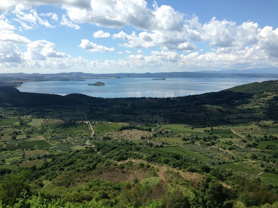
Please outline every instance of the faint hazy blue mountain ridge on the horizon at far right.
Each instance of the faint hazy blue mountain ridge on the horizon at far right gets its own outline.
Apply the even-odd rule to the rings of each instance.
[[[198,73],[225,73],[225,74],[278,74],[278,68],[271,66],[265,68],[252,68],[252,69],[245,69],[245,70],[238,70],[238,69],[223,69],[219,71],[215,70],[203,70],[203,71],[196,71]]]

